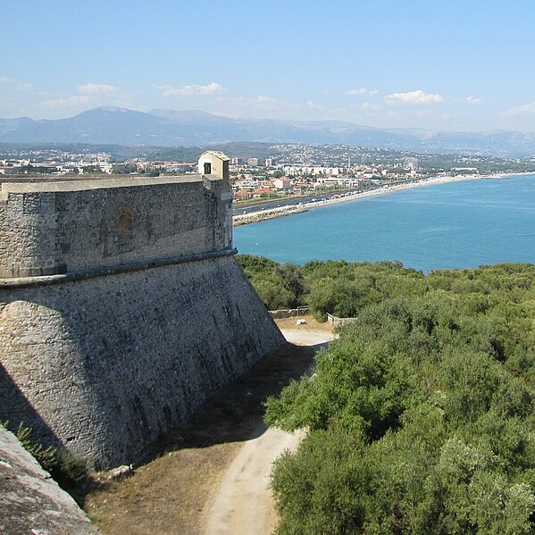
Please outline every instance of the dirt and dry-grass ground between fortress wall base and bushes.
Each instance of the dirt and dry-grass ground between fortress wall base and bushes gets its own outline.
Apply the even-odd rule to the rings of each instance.
[[[263,401],[301,377],[313,364],[315,347],[331,338],[331,326],[309,316],[304,325],[296,325],[295,318],[277,324],[295,344],[265,355],[222,389],[188,426],[156,444],[146,464],[129,478],[107,481],[105,474],[94,474],[80,486],[79,503],[103,535],[200,535],[206,532],[207,520],[212,533],[271,531],[275,517],[267,476],[272,459],[297,440],[264,432]],[[255,438],[264,445],[260,449],[258,440],[251,440]],[[262,449],[267,453],[260,458]],[[240,478],[246,484],[241,490]],[[250,502],[256,492],[259,496]],[[211,513],[214,507],[217,514]],[[232,528],[238,513],[243,519],[236,522],[249,522],[249,527]]]

